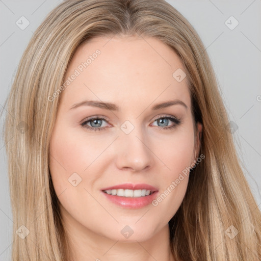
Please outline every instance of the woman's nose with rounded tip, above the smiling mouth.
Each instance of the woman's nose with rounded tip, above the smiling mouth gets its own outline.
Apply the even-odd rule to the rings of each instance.
[[[116,164],[119,169],[140,172],[152,167],[153,153],[149,148],[149,139],[137,127],[129,133],[120,133],[116,141]]]

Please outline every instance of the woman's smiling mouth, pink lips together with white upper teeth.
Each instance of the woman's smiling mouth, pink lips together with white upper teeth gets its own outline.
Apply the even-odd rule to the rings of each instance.
[[[101,190],[111,202],[124,208],[141,208],[155,199],[159,190],[147,184],[122,184]]]

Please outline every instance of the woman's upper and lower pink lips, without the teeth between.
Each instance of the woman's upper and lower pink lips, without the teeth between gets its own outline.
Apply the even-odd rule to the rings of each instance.
[[[139,189],[146,189],[153,192],[151,195],[142,196],[142,197],[122,197],[122,196],[113,196],[109,195],[103,190],[112,190],[112,189],[130,189],[130,190],[139,190]],[[101,190],[102,194],[107,197],[107,199],[111,200],[113,203],[124,207],[124,208],[142,208],[146,205],[151,204],[151,202],[156,198],[158,194],[158,190],[150,185],[147,184],[122,184],[113,187],[108,187]]]

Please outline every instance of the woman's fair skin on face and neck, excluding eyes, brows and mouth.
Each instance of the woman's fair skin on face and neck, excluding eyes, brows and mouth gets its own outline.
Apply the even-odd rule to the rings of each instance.
[[[76,261],[174,260],[168,222],[184,199],[189,175],[157,206],[135,210],[112,203],[100,190],[145,183],[158,188],[160,195],[197,159],[199,135],[186,78],[177,82],[172,76],[178,68],[185,69],[176,53],[158,39],[95,37],[76,50],[65,79],[96,49],[101,54],[60,94],[50,141],[50,173],[72,254]],[[91,106],[70,110],[87,99],[115,103],[120,111]],[[188,108],[177,104],[151,110],[172,99]],[[81,125],[91,116],[106,117],[100,124],[103,130]],[[175,124],[156,120],[166,116],[181,123],[163,129]],[[120,128],[126,120],[134,126],[129,134]],[[96,125],[92,121],[88,126]],[[202,126],[197,127],[201,132]],[[68,182],[72,173],[82,178],[76,187]],[[126,225],[134,231],[127,239],[121,234]]]

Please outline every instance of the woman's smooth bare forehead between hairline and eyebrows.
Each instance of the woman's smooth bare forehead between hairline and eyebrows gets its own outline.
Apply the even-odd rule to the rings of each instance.
[[[86,98],[120,107],[123,101],[137,106],[177,98],[190,107],[187,78],[177,81],[177,70],[185,71],[178,55],[156,38],[95,37],[77,48],[64,82],[77,76],[68,82],[62,100],[68,106]]]

